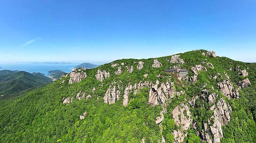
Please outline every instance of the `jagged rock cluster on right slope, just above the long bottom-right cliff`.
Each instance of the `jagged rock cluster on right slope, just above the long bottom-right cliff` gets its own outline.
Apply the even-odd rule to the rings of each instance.
[[[218,89],[221,90],[222,94],[225,95],[228,99],[239,98],[238,90],[233,91],[233,84],[229,81],[228,78],[225,78],[222,82],[217,83]]]

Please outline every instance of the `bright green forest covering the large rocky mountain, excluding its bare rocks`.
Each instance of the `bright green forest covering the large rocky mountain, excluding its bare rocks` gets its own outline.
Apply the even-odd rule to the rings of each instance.
[[[160,57],[158,61],[162,63],[160,68],[152,68],[154,59],[122,59],[114,61],[119,65],[111,67],[110,63],[94,69],[86,70],[87,77],[79,83],[68,84],[68,78],[57,80],[45,87],[27,92],[17,99],[0,102],[0,142],[84,142],[84,143],[139,143],[142,138],[145,142],[156,143],[161,141],[162,136],[167,143],[174,141],[173,132],[179,129],[175,125],[172,117],[172,110],[181,102],[188,102],[193,96],[202,94],[202,89],[214,90],[223,97],[232,107],[231,121],[223,126],[223,143],[230,142],[256,142],[256,65],[253,63],[243,63],[233,61],[225,57],[203,56],[199,51],[191,51],[181,54],[185,61],[181,68],[189,71],[189,78],[193,75],[190,71],[192,66],[202,64],[207,68],[207,72],[201,71],[198,75],[198,82],[177,80],[177,75],[163,72],[174,64],[170,64],[171,56]],[[144,62],[142,70],[137,70],[139,61]],[[202,63],[205,61],[205,63]],[[137,62],[137,63],[135,63]],[[214,65],[214,69],[209,68],[206,63]],[[125,65],[121,65],[125,63]],[[114,72],[121,66],[121,75]],[[133,73],[128,73],[125,66],[133,66]],[[244,77],[238,71],[228,71],[228,68],[246,69],[249,72],[251,87],[240,90],[240,99],[226,99],[217,90],[217,83],[221,82],[226,74],[234,87],[235,83],[243,80]],[[249,68],[247,68],[249,67]],[[96,80],[95,74],[98,69],[110,72],[110,77],[103,82]],[[144,74],[148,74],[144,77]],[[210,75],[217,75],[216,80]],[[156,76],[159,75],[160,76]],[[170,77],[171,76],[171,77]],[[65,80],[64,83],[61,83]],[[138,94],[129,94],[127,107],[122,106],[123,97],[115,104],[103,103],[103,95],[112,82],[121,85],[121,95],[128,84],[139,83],[140,81],[174,82],[177,91],[185,91],[186,94],[175,96],[169,100],[164,114],[165,119],[160,125],[156,125],[155,119],[160,116],[163,110],[159,106],[148,104],[148,88],[140,90]],[[205,84],[207,83],[207,85]],[[92,92],[95,87],[95,92]],[[62,101],[67,97],[75,97],[79,92],[86,92],[92,95],[86,100],[75,99],[72,103],[65,105]],[[196,99],[195,107],[190,107],[193,121],[198,123],[198,132],[201,133],[203,122],[206,122],[213,112],[209,110],[214,103],[209,104],[205,99]],[[87,112],[85,119],[80,120],[79,115]],[[196,136],[196,130],[191,127],[186,131],[188,136],[184,139],[186,143],[199,143],[202,137]]]

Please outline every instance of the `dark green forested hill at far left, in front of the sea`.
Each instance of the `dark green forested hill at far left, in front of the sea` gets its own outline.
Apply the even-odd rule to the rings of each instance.
[[[23,94],[32,87],[39,87],[51,82],[51,78],[42,73],[23,71],[0,71],[0,99],[8,99]]]

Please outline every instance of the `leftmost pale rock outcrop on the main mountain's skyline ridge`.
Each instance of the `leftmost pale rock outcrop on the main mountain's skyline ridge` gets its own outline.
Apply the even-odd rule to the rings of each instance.
[[[72,72],[70,73],[70,78],[68,83],[72,84],[75,82],[80,82],[82,79],[86,78],[86,68],[74,68]]]

